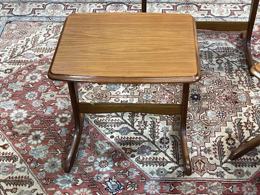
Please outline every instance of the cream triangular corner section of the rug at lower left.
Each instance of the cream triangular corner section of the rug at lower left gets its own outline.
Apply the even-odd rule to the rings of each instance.
[[[21,144],[15,144],[19,147]],[[34,176],[14,145],[0,132],[0,194],[46,194],[40,181]],[[18,190],[24,188],[26,190]]]

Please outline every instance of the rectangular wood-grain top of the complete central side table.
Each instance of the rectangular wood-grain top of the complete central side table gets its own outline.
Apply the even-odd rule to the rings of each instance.
[[[190,15],[72,14],[64,26],[52,79],[173,83],[200,78],[196,22]]]

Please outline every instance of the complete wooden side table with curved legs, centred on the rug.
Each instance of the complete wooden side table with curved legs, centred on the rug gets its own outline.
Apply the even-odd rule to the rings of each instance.
[[[80,143],[82,113],[140,112],[180,115],[186,175],[189,83],[200,79],[196,22],[185,14],[85,13],[67,17],[48,77],[68,82],[75,130],[64,170],[70,172]],[[183,83],[181,104],[79,102],[78,82]]]

